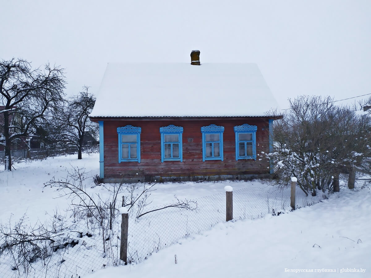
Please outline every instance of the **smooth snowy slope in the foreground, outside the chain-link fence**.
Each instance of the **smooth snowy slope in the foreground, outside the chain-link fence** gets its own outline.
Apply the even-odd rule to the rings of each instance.
[[[295,212],[217,224],[141,264],[85,277],[371,277],[370,208],[370,188],[342,190]]]

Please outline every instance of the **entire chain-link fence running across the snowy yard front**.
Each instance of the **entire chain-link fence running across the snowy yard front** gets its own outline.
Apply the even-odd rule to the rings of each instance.
[[[322,192],[315,197],[306,196],[299,189],[296,191],[296,207],[312,205],[327,198]],[[129,214],[128,262],[142,262],[153,252],[225,222],[226,193],[192,199],[189,209],[162,208],[164,206],[145,207],[139,213],[134,210]],[[290,210],[289,188],[277,190],[269,186],[233,191],[235,220],[279,215]],[[146,211],[152,212],[137,218]],[[107,266],[122,264],[119,259],[121,215],[106,223],[102,228],[89,218],[76,223],[69,219],[64,228],[56,228],[56,232],[50,235],[55,236],[55,242],[45,242],[45,250],[49,250],[46,256],[34,252],[33,257],[25,257],[27,261],[21,264],[17,258],[24,250],[3,253],[0,256],[0,277],[78,278]]]

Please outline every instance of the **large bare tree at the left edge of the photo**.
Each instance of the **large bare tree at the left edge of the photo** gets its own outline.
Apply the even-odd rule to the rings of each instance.
[[[63,102],[65,76],[60,67],[45,65],[32,69],[22,59],[0,61],[0,104],[4,123],[0,127],[0,145],[5,146],[5,169],[12,170],[12,143],[49,121]],[[49,116],[48,116],[49,115]],[[10,119],[12,119],[12,122]]]

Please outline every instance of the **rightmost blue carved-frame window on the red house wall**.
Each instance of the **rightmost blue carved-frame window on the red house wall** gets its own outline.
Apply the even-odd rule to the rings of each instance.
[[[256,130],[257,126],[250,126],[247,123],[234,127],[236,160],[256,159]]]

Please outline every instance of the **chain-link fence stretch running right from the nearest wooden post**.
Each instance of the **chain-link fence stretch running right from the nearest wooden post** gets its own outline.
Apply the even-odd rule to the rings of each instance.
[[[306,196],[296,191],[296,208],[327,199],[324,193]],[[167,208],[135,219],[129,218],[128,260],[141,262],[153,252],[174,244],[190,234],[210,229],[226,221],[226,193],[194,199],[195,210]],[[163,206],[162,206],[163,207]],[[157,207],[155,209],[160,209]],[[290,211],[290,189],[244,188],[233,191],[233,219],[256,219],[266,214],[279,215]]]

